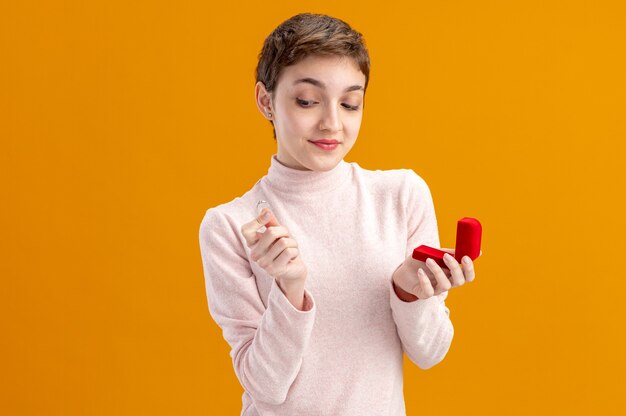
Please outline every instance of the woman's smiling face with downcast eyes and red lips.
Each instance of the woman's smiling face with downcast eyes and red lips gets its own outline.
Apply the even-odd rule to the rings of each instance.
[[[278,160],[300,170],[333,169],[352,149],[363,117],[365,75],[351,58],[309,56],[283,69],[274,99],[257,84],[257,103],[271,107],[278,142]],[[266,111],[263,111],[265,109]],[[336,146],[314,141],[336,140]]]

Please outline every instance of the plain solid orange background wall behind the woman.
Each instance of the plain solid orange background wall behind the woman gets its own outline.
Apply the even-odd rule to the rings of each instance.
[[[254,68],[303,11],[370,50],[346,161],[420,174],[444,247],[483,224],[407,414],[623,410],[621,2],[227,3],[2,2],[0,413],[239,414],[198,229],[267,172]]]

